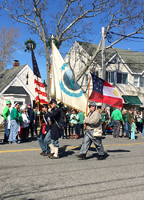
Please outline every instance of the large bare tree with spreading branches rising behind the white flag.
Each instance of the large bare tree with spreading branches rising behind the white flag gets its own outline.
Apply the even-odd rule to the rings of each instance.
[[[55,5],[55,0],[4,0],[2,8],[16,21],[30,27],[33,33],[39,35],[43,42],[46,63],[47,63],[47,85],[49,95],[49,49],[47,40],[54,34],[58,41],[58,46],[73,38],[84,39],[86,33],[92,32],[92,20],[99,20],[101,16],[102,24],[105,26],[105,37],[110,36],[110,31],[119,31],[126,35],[119,35],[108,47],[112,47],[122,39],[130,35],[141,33],[143,30],[143,1],[141,0],[59,0],[59,9],[56,14],[50,6]],[[52,23],[49,19],[52,19]],[[91,22],[90,22],[91,21]],[[127,27],[135,28],[135,31],[128,33]],[[101,44],[101,41],[100,41]],[[101,45],[90,60],[89,64],[76,78],[79,80],[93,62]]]

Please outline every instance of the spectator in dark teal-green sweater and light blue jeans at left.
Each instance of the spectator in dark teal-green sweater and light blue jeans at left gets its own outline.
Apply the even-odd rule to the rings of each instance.
[[[19,109],[19,103],[16,102],[14,104],[14,107],[11,111],[11,126],[10,126],[10,137],[9,137],[9,143],[15,143],[18,144],[17,135],[18,135],[18,109]]]

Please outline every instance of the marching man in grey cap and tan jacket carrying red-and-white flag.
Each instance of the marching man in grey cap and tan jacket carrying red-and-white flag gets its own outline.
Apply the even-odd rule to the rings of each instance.
[[[89,111],[90,112],[84,120],[84,123],[86,123],[86,133],[83,138],[80,155],[77,155],[77,157],[85,160],[87,151],[93,142],[99,155],[98,160],[103,160],[105,159],[105,153],[102,145],[102,139],[101,137],[94,136],[94,130],[102,134],[101,115],[96,110],[95,102],[90,102]]]

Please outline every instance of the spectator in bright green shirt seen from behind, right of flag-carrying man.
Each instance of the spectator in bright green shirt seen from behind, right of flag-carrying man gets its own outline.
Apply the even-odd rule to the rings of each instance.
[[[112,112],[111,118],[114,121],[114,131],[113,131],[113,137],[114,138],[120,138],[120,125],[121,121],[123,122],[124,125],[124,120],[122,117],[121,111],[117,108]]]

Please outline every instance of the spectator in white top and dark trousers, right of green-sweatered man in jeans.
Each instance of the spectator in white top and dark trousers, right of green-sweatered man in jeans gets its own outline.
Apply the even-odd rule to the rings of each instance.
[[[30,123],[30,120],[29,120],[29,116],[28,116],[28,113],[27,113],[27,108],[26,108],[26,105],[22,105],[21,107],[21,116],[22,116],[22,142],[26,142],[27,141],[27,137],[28,137],[28,128],[29,128],[29,123]]]

